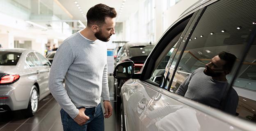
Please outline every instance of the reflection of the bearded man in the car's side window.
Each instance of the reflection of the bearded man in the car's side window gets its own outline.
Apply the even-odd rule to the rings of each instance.
[[[205,68],[198,68],[187,77],[176,94],[235,115],[238,94],[228,87],[226,79],[235,60],[235,55],[220,52]]]

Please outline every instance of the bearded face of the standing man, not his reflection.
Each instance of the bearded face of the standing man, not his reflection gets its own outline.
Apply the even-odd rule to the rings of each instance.
[[[110,40],[110,36],[115,34],[114,26],[116,25],[115,18],[106,17],[105,23],[100,27],[100,31],[94,35],[97,39],[107,42]]]

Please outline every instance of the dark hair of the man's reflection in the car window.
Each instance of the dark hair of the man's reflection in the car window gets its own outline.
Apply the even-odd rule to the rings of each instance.
[[[220,52],[218,56],[220,59],[226,61],[225,65],[223,65],[223,69],[231,71],[236,61],[235,55],[228,52]]]

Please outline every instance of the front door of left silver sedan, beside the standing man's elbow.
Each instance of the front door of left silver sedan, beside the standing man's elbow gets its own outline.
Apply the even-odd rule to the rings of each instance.
[[[50,62],[41,54],[36,52],[38,59],[41,61],[39,66],[39,79],[41,80],[40,99],[48,95],[48,81],[50,74]]]

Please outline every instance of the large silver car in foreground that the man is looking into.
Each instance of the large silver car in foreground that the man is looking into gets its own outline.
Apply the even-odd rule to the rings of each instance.
[[[200,0],[162,35],[141,72],[134,72],[133,61],[119,63],[114,77],[129,79],[121,87],[120,129],[256,131],[255,5],[254,0]],[[238,58],[223,87],[239,95],[233,115],[175,93],[222,51]],[[225,97],[219,94],[224,102]]]

